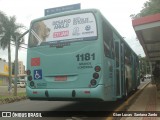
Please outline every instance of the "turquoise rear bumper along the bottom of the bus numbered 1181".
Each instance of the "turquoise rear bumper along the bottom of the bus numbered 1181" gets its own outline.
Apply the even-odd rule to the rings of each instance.
[[[104,86],[83,89],[31,89],[26,87],[27,96],[31,100],[81,101],[104,100]]]

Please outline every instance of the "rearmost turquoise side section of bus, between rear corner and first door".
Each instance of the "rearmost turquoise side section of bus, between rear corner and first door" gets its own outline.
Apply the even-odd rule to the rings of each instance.
[[[113,29],[104,18],[102,18],[102,29],[103,82],[105,87],[105,100],[115,101],[115,57]]]

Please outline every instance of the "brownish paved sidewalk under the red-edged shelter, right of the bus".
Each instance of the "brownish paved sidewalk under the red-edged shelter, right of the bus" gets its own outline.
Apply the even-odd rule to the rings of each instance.
[[[127,111],[160,112],[160,91],[150,83]],[[160,117],[122,117],[121,120],[160,120]]]

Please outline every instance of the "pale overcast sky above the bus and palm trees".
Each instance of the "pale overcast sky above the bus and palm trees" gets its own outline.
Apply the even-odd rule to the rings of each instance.
[[[17,23],[21,23],[29,28],[33,19],[43,17],[44,10],[48,8],[60,7],[71,4],[81,4],[81,9],[96,8],[101,11],[104,17],[112,26],[124,37],[125,41],[135,51],[137,55],[145,56],[143,49],[136,39],[135,31],[132,27],[131,14],[137,14],[147,0],[0,0],[0,11],[7,16],[16,16]],[[25,32],[25,30],[22,30]],[[25,36],[25,43],[28,42],[28,35]],[[27,46],[24,46],[27,47]],[[15,48],[11,47],[12,61],[15,59]],[[0,49],[0,58],[8,61],[7,50]],[[26,65],[27,50],[19,50],[19,60]]]

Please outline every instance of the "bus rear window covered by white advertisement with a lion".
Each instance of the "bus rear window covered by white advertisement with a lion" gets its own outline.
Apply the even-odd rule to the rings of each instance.
[[[96,39],[95,16],[93,13],[82,13],[34,22],[30,29],[29,47]]]

